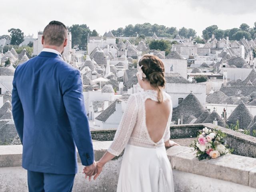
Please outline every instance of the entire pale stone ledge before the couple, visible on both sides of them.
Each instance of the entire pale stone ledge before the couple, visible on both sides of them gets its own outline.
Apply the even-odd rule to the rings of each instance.
[[[99,160],[111,141],[93,142],[95,160]],[[174,170],[224,180],[256,188],[256,159],[227,154],[199,161],[190,147],[174,146],[167,150]],[[0,167],[21,166],[22,146],[0,146]]]

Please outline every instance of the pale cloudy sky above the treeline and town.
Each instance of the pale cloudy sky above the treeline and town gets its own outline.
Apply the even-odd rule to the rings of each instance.
[[[25,35],[43,30],[51,20],[67,26],[87,24],[101,35],[128,24],[150,22],[193,28],[198,35],[207,26],[220,29],[250,27],[256,22],[255,0],[8,0],[0,9],[0,35],[20,28]],[[1,3],[1,5],[3,5]]]

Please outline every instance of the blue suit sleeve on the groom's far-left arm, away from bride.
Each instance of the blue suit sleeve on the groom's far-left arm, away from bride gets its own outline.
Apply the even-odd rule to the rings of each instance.
[[[18,67],[15,70],[14,78],[12,82],[12,116],[14,119],[14,124],[16,127],[16,130],[18,132],[18,135],[20,136],[21,142],[23,141],[23,125],[24,125],[24,112],[22,108],[22,103],[20,101],[20,97],[18,94],[18,90],[16,87],[16,72],[18,70]]]

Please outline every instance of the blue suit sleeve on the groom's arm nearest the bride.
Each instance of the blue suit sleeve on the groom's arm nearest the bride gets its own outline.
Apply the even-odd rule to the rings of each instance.
[[[74,70],[68,74],[62,86],[62,94],[81,162],[84,166],[91,165],[94,152],[79,71]]]

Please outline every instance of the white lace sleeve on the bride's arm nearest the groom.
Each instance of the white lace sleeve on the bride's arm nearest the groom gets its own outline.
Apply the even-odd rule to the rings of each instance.
[[[118,156],[124,150],[124,148],[126,147],[126,144],[130,139],[132,130],[134,129],[134,126],[136,124],[137,113],[138,113],[138,108],[137,108],[136,96],[131,95],[128,98],[128,101],[126,104],[126,110],[122,116],[118,129],[116,130],[114,140],[110,145],[110,147],[108,148],[108,152],[110,152],[115,156]]]

